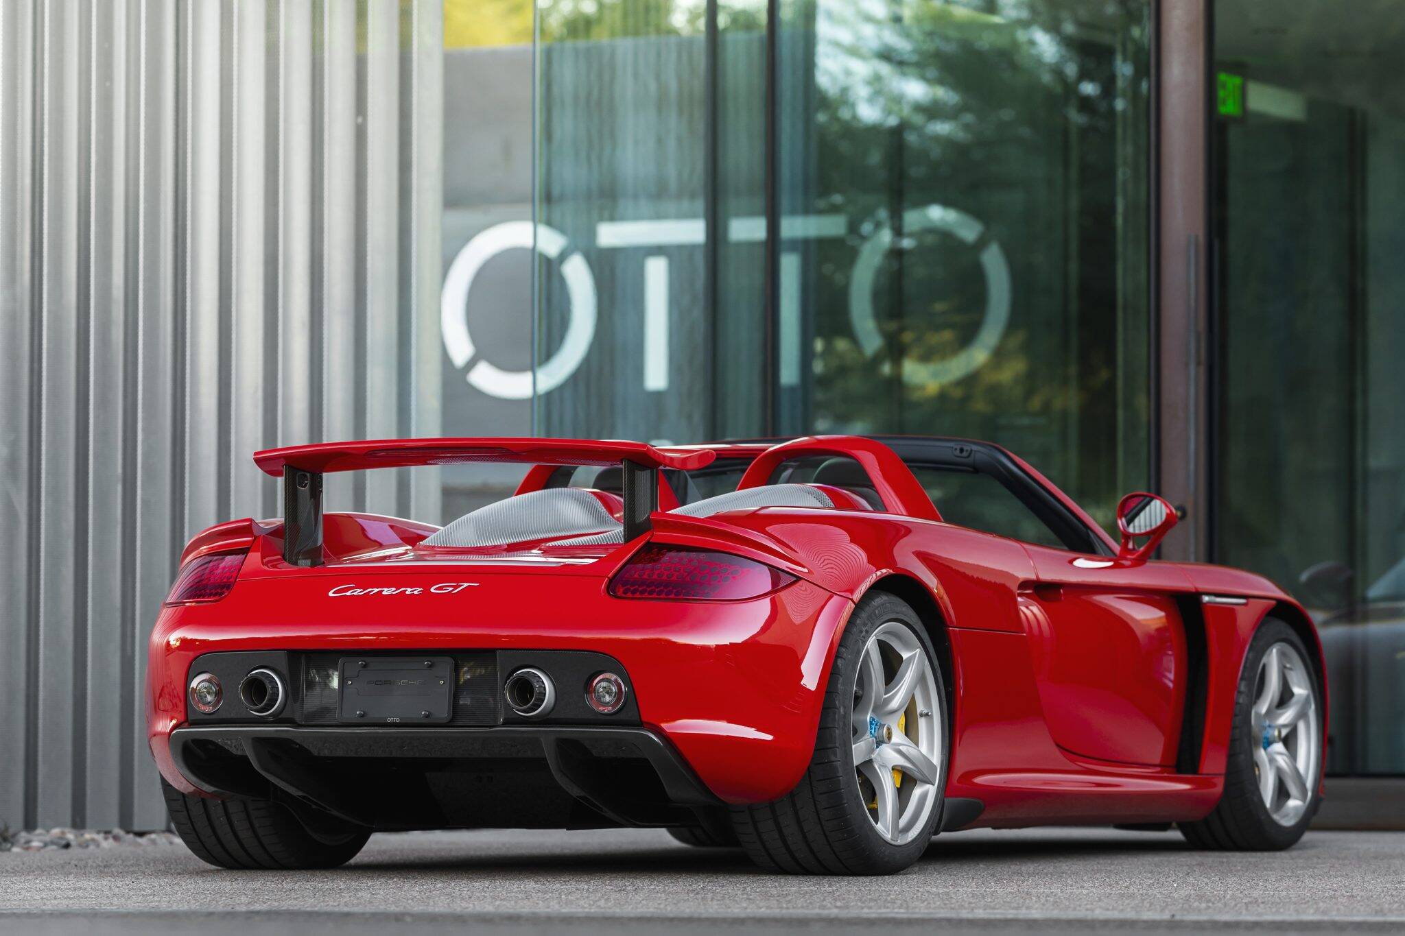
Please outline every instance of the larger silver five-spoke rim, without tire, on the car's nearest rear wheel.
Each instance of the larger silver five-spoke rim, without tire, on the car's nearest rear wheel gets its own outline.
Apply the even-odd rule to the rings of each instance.
[[[868,637],[854,681],[854,772],[874,828],[906,845],[941,801],[946,740],[932,661],[916,634],[889,620]]]

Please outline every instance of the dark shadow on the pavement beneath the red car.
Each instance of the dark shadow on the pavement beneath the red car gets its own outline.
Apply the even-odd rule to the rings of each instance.
[[[443,845],[424,855],[362,855],[347,866],[351,871],[514,871],[531,874],[769,874],[753,864],[740,849],[688,848],[660,842],[658,846],[634,846],[600,852],[561,853],[502,853],[472,855],[472,841],[465,838],[465,853],[445,853]],[[1079,838],[1069,832],[1066,838],[1010,838],[1000,841],[993,836],[965,838],[947,834],[933,839],[917,862],[917,867],[948,862],[981,860],[1019,862],[1043,857],[1109,857],[1116,855],[1149,855],[1184,852],[1189,849],[1179,835],[1148,834],[1145,838]]]

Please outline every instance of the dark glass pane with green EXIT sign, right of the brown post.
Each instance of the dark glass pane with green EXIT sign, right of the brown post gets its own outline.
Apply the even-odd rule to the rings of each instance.
[[[1329,662],[1328,769],[1401,775],[1398,6],[1214,11],[1215,557],[1312,609]]]

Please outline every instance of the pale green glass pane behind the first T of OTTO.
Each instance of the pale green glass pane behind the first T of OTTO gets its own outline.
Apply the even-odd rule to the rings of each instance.
[[[537,425],[767,431],[764,7],[538,8]]]

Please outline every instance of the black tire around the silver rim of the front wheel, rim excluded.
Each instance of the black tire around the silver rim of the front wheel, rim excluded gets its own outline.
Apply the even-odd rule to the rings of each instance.
[[[1286,643],[1297,650],[1307,662],[1315,700],[1318,730],[1316,775],[1305,777],[1311,798],[1301,818],[1293,825],[1284,825],[1273,818],[1259,793],[1257,772],[1253,752],[1259,738],[1253,730],[1253,702],[1259,676],[1259,664],[1270,647]],[[1249,650],[1245,653],[1239,674],[1239,688],[1235,693],[1234,727],[1229,733],[1229,754],[1225,763],[1225,789],[1214,811],[1196,822],[1179,822],[1180,834],[1191,846],[1208,850],[1231,852],[1276,852],[1297,843],[1311,824],[1321,805],[1319,794],[1322,762],[1325,754],[1322,734],[1322,682],[1312,665],[1312,655],[1288,624],[1276,617],[1266,617],[1255,631]]]

